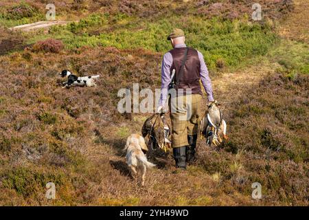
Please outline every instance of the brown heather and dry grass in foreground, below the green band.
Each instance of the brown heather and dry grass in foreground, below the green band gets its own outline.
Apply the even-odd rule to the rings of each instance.
[[[58,56],[23,53],[1,57],[3,76],[10,76],[3,78],[0,94],[2,204],[254,205],[251,183],[260,181],[265,195],[260,204],[306,205],[308,137],[302,120],[308,113],[299,110],[306,104],[306,76],[293,81],[270,76],[260,82],[268,67],[218,76],[216,98],[225,103],[231,140],[220,149],[199,141],[198,162],[177,174],[170,154],[155,154],[159,168],[150,170],[146,187],[139,188],[121,150],[126,136],[139,132],[145,115],[133,114],[130,121],[116,113],[115,91],[130,85],[122,78],[128,71],[143,87],[159,87],[150,73],[159,71],[160,54],[113,48]],[[66,67],[79,75],[100,73],[99,86],[61,89],[57,74]],[[256,75],[250,84],[249,74]],[[286,95],[296,98],[282,101]],[[288,139],[291,135],[296,142]],[[30,179],[20,182],[24,178]],[[52,203],[44,199],[45,181],[58,184]]]

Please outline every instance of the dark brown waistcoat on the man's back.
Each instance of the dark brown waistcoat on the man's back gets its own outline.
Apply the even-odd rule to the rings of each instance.
[[[183,58],[185,56],[185,47],[174,48],[170,51],[173,58],[173,64],[170,69],[176,70],[175,74],[175,82],[179,75],[179,70],[181,68],[181,63],[183,62]],[[188,47],[187,51],[187,60],[185,61],[185,65],[183,66],[183,74],[182,77],[179,78],[179,84],[176,85],[176,89],[183,89],[183,93],[185,93],[185,89],[192,89],[192,94],[202,94],[201,85],[200,85],[200,71],[201,64],[200,59],[198,58],[198,52],[190,47]],[[178,94],[178,93],[177,93]]]

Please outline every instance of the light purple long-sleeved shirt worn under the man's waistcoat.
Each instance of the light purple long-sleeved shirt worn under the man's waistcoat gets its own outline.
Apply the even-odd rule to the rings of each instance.
[[[187,47],[187,46],[184,43],[175,45],[175,48],[179,47]],[[211,87],[211,80],[209,78],[208,69],[206,67],[203,54],[201,54],[201,52],[198,52],[198,58],[200,59],[201,63],[200,76],[203,83],[203,87],[206,91],[208,101],[211,102],[214,100],[213,91]],[[170,85],[170,82],[172,80],[170,73],[172,63],[173,63],[172,54],[170,52],[164,54],[161,67],[161,96],[159,100],[159,106],[163,106],[168,97],[168,85]]]

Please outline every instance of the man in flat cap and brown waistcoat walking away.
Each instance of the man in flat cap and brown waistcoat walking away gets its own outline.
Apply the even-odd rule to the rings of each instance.
[[[185,45],[185,34],[181,29],[174,29],[168,36],[173,50],[163,56],[161,69],[161,97],[158,112],[165,109],[168,87],[175,69],[176,96],[170,99],[170,118],[172,121],[172,148],[176,168],[186,169],[187,163],[194,161],[198,122],[203,115],[201,111],[202,90],[200,79],[208,96],[213,102],[211,80],[205,65],[203,54]],[[184,61],[184,63],[183,63]],[[183,63],[183,65],[182,65]],[[182,69],[182,70],[181,70]],[[174,80],[175,81],[175,80]],[[189,89],[185,91],[186,89]],[[184,91],[183,96],[179,94]],[[181,102],[177,98],[183,98]],[[187,116],[183,119],[183,116]]]

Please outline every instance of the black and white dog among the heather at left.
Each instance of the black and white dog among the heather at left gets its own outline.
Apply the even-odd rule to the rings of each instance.
[[[62,85],[65,85],[62,88],[71,87],[71,86],[95,87],[96,85],[93,79],[100,77],[100,75],[78,77],[78,76],[73,75],[67,69],[62,70],[60,75],[62,76],[62,78],[67,76],[67,82],[62,83]]]

